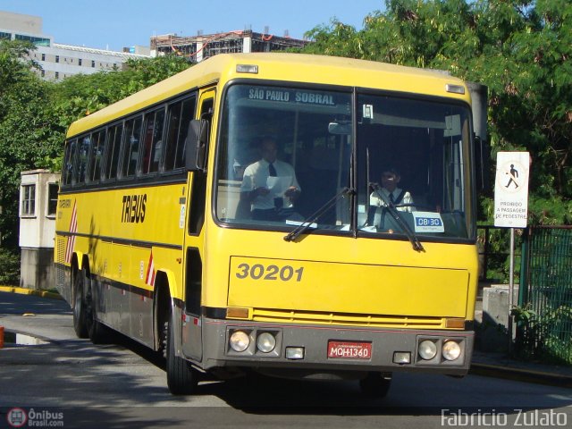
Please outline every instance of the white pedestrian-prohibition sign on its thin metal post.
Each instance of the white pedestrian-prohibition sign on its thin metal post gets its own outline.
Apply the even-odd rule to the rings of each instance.
[[[528,221],[528,152],[499,152],[494,184],[494,226],[510,228],[509,267],[509,351],[512,349],[514,306],[515,228],[526,228]]]

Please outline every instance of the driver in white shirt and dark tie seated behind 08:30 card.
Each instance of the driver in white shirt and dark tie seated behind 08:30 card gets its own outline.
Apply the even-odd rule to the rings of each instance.
[[[374,189],[374,192],[369,196],[368,225],[379,226],[380,223],[383,223],[383,217],[387,211],[385,207],[388,206],[384,199],[390,201],[400,212],[415,211],[411,194],[407,190],[398,188],[397,185],[400,181],[400,172],[396,168],[390,167],[383,170],[382,187]]]

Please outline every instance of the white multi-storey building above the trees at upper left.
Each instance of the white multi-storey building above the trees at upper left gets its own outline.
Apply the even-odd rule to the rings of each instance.
[[[62,45],[42,33],[42,19],[21,13],[0,12],[0,38],[28,40],[37,46],[30,58],[41,67],[46,80],[62,80],[74,74],[122,69],[128,59],[148,58],[145,46],[124,48],[127,52],[93,49],[83,46]]]

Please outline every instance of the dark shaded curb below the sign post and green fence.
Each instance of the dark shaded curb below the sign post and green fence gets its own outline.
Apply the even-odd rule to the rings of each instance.
[[[572,376],[492,364],[473,363],[469,374],[504,378],[517,382],[540,383],[558,387],[572,387]]]

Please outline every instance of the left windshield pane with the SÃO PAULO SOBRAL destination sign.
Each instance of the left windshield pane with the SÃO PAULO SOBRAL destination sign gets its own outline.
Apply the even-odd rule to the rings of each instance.
[[[349,187],[351,93],[234,85],[223,105],[216,215],[227,223],[299,225]],[[349,231],[349,198],[314,219]]]

